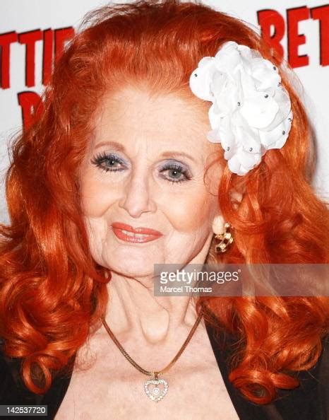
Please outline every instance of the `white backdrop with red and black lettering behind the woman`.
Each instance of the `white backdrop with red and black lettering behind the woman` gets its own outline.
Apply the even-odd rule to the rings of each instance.
[[[124,1],[117,1],[123,3]],[[318,0],[205,0],[273,37],[304,88],[300,91],[318,138],[317,194],[329,202],[329,4]],[[0,221],[8,222],[3,175],[7,141],[27,122],[31,100],[47,83],[52,57],[84,14],[108,1],[0,2]],[[270,12],[271,11],[271,12]],[[37,158],[37,156],[36,156]]]

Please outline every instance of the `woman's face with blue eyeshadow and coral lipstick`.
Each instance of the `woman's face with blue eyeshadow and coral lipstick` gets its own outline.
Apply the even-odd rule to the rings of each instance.
[[[155,263],[185,265],[206,255],[220,176],[216,164],[203,180],[219,147],[205,138],[207,110],[126,88],[104,98],[95,123],[80,167],[95,261],[125,276],[152,276]],[[157,235],[125,234],[117,223]]]

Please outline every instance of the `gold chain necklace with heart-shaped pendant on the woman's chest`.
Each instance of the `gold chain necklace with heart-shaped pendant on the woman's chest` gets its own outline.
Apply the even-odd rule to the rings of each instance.
[[[102,317],[102,322],[103,322],[103,325],[104,325],[105,329],[107,330],[107,333],[109,334],[109,337],[112,338],[112,340],[114,341],[114,344],[116,344],[116,346],[119,348],[119,350],[124,355],[124,357],[136,369],[138,369],[138,371],[140,371],[141,373],[144,373],[145,375],[148,375],[148,376],[152,376],[153,377],[153,379],[147,380],[145,382],[145,384],[144,384],[144,390],[145,390],[146,395],[148,395],[148,397],[150,399],[152,399],[152,401],[158,402],[158,401],[160,401],[164,397],[164,395],[167,394],[167,391],[168,391],[168,383],[167,383],[167,380],[165,380],[164,378],[159,379],[158,376],[160,374],[162,375],[162,373],[164,373],[164,372],[169,371],[169,369],[172,367],[172,365],[178,360],[179,356],[181,356],[181,354],[183,353],[183,351],[186,348],[187,344],[189,344],[189,341],[191,340],[194,332],[196,331],[196,328],[198,327],[199,322],[201,321],[202,315],[203,315],[203,311],[201,310],[200,315],[198,315],[198,318],[196,319],[196,322],[194,323],[194,325],[193,325],[193,327],[192,327],[189,335],[187,336],[184,344],[179,349],[179,352],[177,353],[176,356],[174,356],[174,358],[169,363],[169,365],[167,365],[161,371],[146,371],[145,369],[143,369],[142,367],[140,367],[138,365],[138,363],[136,363],[136,361],[134,361],[133,358],[131,358],[131,356],[128,355],[128,353],[126,352],[126,350],[124,349],[124,347],[121,346],[121,344],[119,343],[119,341],[116,339],[116,337],[114,336],[113,332],[109,328],[109,325],[107,325],[107,322],[104,320],[104,317]],[[152,389],[150,389],[150,385],[155,385],[155,387],[153,387]],[[158,387],[158,385],[163,385],[162,391],[160,390],[160,388]]]

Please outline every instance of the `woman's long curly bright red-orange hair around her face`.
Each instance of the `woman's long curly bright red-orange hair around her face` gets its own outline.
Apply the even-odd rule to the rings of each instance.
[[[311,130],[275,52],[241,21],[199,2],[104,6],[85,18],[56,64],[40,117],[11,145],[11,223],[0,226],[0,336],[5,353],[22,358],[32,392],[49,389],[100,327],[107,306],[111,275],[92,259],[78,178],[102,95],[143,85],[209,107],[193,97],[189,76],[229,40],[258,49],[280,69],[294,120],[285,146],[268,151],[243,177],[229,172],[219,146],[218,205],[235,239],[221,261],[328,262],[328,209],[310,186]],[[239,206],[232,191],[243,192]],[[213,247],[209,259],[219,261]],[[201,303],[215,315],[216,328],[239,337],[229,380],[258,404],[273,400],[276,388],[299,385],[287,372],[311,368],[329,330],[325,297],[200,297],[198,311]]]

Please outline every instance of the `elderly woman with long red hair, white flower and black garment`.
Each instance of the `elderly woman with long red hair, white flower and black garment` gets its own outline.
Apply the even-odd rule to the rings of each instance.
[[[175,0],[91,13],[12,146],[1,404],[328,418],[328,298],[154,293],[155,263],[327,263],[311,141],[241,21]]]

